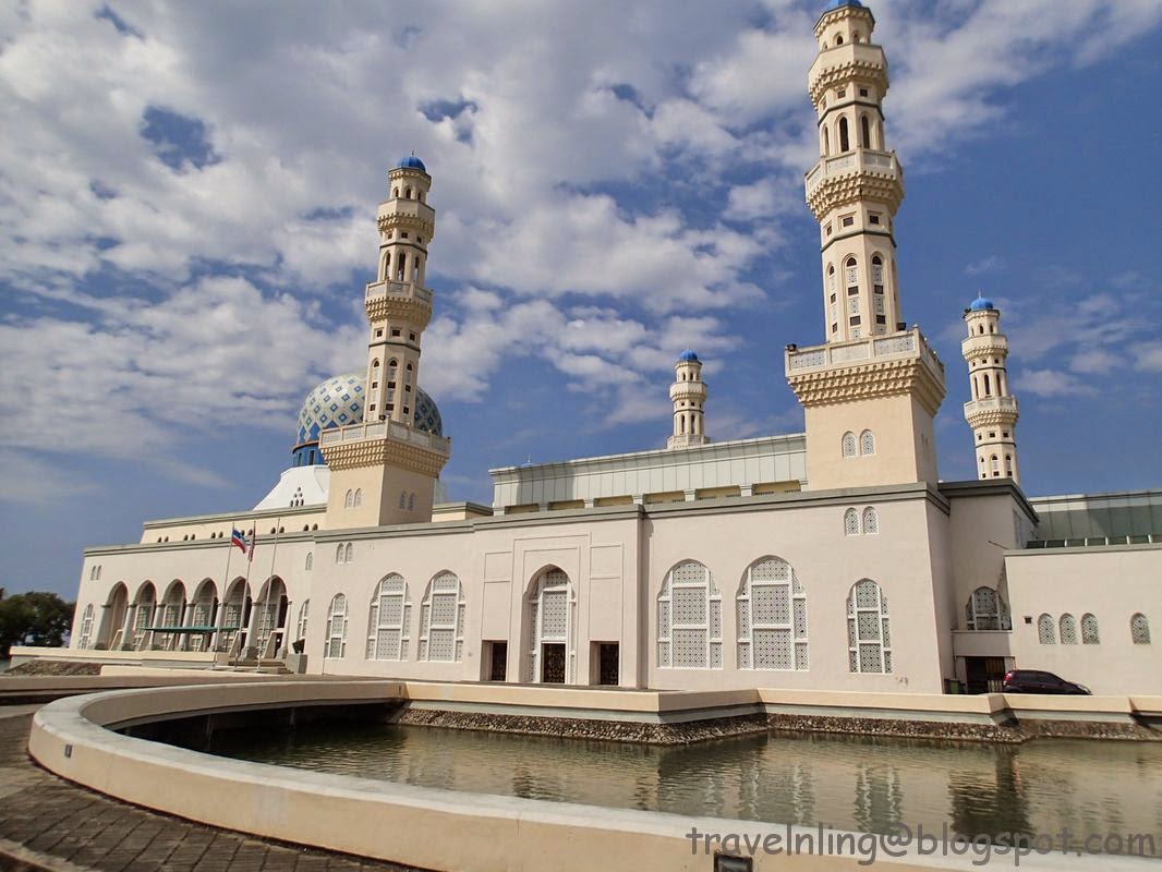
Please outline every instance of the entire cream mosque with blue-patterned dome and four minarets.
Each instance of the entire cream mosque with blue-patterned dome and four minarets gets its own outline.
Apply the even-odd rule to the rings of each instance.
[[[365,370],[308,394],[292,466],[253,509],[146,521],[137,543],[86,549],[73,655],[925,693],[998,689],[1017,666],[1157,693],[1162,491],[1021,491],[1009,343],[987,299],[964,309],[960,376],[977,477],[939,478],[948,372],[902,307],[904,172],[874,26],[858,0],[833,0],[815,28],[819,160],[805,194],[823,342],[784,358],[804,433],[712,442],[687,350],[665,449],[492,470],[492,506],[447,501],[452,442],[419,386],[432,177],[407,157],[376,217]]]

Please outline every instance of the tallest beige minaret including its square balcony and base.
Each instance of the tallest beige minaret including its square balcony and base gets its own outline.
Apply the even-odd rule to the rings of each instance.
[[[894,226],[904,171],[887,150],[888,91],[875,19],[859,0],[830,0],[815,26],[808,88],[819,163],[806,201],[819,222],[824,344],[788,345],[787,380],[803,406],[808,488],[938,479],[933,419],[945,369],[899,309]]]

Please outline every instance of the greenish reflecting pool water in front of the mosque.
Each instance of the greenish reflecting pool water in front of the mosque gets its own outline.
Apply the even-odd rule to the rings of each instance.
[[[320,723],[215,734],[213,753],[450,791],[865,832],[899,823],[1070,842],[1153,834],[1162,743],[989,745],[759,734],[659,748],[504,732]]]

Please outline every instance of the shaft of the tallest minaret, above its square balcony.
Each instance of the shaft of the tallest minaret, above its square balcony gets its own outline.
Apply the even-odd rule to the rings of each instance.
[[[806,176],[806,201],[819,222],[827,342],[904,329],[892,236],[904,171],[884,141],[888,60],[871,44],[874,28],[858,0],[831,2],[815,26],[808,86],[819,163]]]

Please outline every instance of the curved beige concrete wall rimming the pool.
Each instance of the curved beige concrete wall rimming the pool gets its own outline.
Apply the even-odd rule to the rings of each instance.
[[[467,688],[450,688],[444,695],[456,695],[457,689]],[[150,688],[77,696],[50,703],[37,713],[29,751],[46,769],[71,781],[148,808],[217,827],[431,870],[708,872],[713,867],[713,858],[691,851],[686,835],[691,827],[703,832],[779,835],[781,838],[788,834],[787,827],[753,821],[690,819],[445,792],[289,770],[196,753],[106,729],[172,717],[177,713],[195,715],[256,707],[385,701],[408,698],[408,691],[397,681],[316,680]],[[432,695],[421,688],[415,688],[414,694]],[[573,698],[573,705],[580,702],[575,693],[567,695]],[[612,700],[605,696],[604,701]],[[644,702],[625,700],[622,705],[634,708]],[[813,834],[815,830],[792,828],[791,832]],[[454,837],[450,837],[452,834]],[[860,834],[855,838],[860,838]],[[948,859],[925,858],[912,851],[904,855],[898,860],[880,858],[877,862],[904,864],[909,870],[947,870],[961,865],[959,860],[951,864]],[[974,867],[970,856],[961,859],[963,869]],[[1114,857],[1099,860],[1089,867],[1140,867]],[[1023,865],[1056,869],[1053,862],[1053,857],[1026,857]],[[866,860],[861,865],[859,857],[787,857],[761,852],[754,863],[756,870],[862,867]]]

